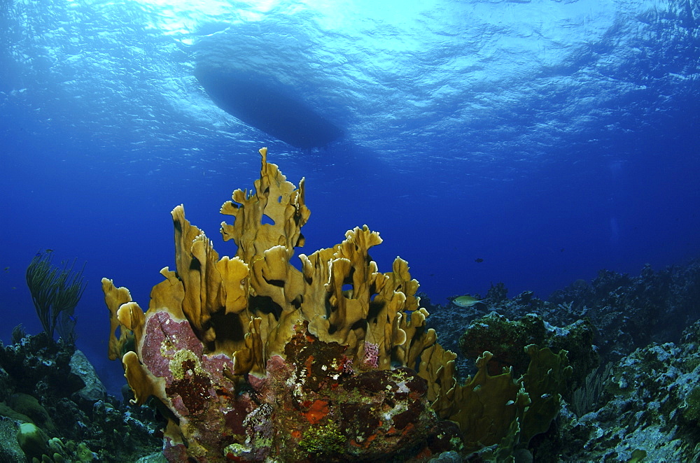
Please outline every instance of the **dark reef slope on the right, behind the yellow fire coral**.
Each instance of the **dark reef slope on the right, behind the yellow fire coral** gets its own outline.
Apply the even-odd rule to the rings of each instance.
[[[508,299],[502,283],[491,286],[482,308],[421,301],[427,325],[439,326],[444,346],[463,354],[454,360],[461,372],[475,369],[482,349],[500,360],[491,371],[503,364],[521,371],[527,359],[519,346],[529,342],[568,350],[573,371],[559,390],[561,414],[526,446],[535,461],[696,461],[699,295],[696,261],[645,266],[638,276],[603,270],[548,301],[532,292]]]

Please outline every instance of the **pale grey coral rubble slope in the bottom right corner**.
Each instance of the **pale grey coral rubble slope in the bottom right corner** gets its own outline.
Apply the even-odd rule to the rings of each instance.
[[[644,461],[698,461],[698,346],[700,322],[678,345],[651,343],[613,364],[594,411],[580,418],[563,413],[561,434],[569,445],[561,458],[627,462],[643,452]]]

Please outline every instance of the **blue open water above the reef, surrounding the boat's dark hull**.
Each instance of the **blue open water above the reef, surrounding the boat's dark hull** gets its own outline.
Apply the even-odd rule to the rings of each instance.
[[[367,224],[379,269],[407,259],[434,303],[698,257],[699,61],[698,0],[0,0],[0,339],[41,331],[36,252],[77,257],[78,348],[123,383],[100,279],[146,308],[181,203],[233,255],[218,208],[262,146],[307,179],[300,252]],[[344,137],[244,124],[202,65],[265,76]]]

